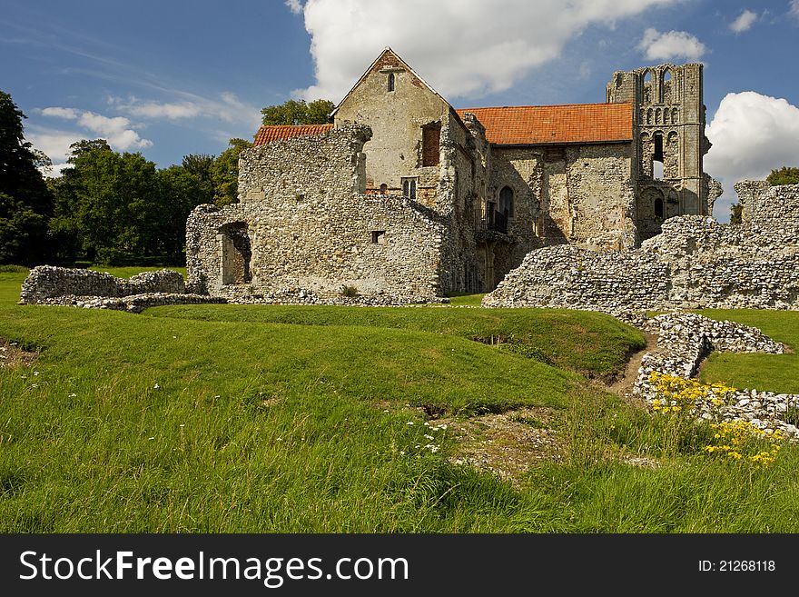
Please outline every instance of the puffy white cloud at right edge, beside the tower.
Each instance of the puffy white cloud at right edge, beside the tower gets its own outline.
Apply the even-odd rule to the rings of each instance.
[[[705,172],[724,185],[725,205],[735,200],[736,182],[762,180],[784,165],[799,166],[799,108],[784,99],[754,91],[727,94],[706,134],[713,147],[705,155]]]

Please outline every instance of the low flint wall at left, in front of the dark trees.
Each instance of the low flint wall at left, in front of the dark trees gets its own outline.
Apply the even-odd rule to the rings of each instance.
[[[183,276],[173,270],[143,272],[126,280],[94,270],[39,265],[25,278],[20,303],[43,303],[46,299],[66,295],[120,297],[131,294],[183,294],[185,290]]]

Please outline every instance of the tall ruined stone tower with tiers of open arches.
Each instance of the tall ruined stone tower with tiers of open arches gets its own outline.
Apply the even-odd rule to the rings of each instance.
[[[636,195],[641,239],[660,232],[674,215],[708,215],[702,158],[705,137],[703,65],[657,65],[617,71],[607,102],[633,104]]]

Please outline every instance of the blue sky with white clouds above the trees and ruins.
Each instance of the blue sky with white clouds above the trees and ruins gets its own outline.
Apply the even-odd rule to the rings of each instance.
[[[799,166],[799,0],[0,0],[0,89],[63,164],[103,137],[160,167],[346,93],[390,45],[455,107],[602,102],[615,70],[705,64],[705,171]],[[57,167],[56,167],[57,170]]]

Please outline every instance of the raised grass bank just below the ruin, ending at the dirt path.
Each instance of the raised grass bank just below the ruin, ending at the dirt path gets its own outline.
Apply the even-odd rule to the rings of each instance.
[[[607,315],[565,309],[181,305],[150,309],[146,315],[251,326],[263,323],[324,328],[347,326],[371,332],[383,330],[380,334],[401,330],[400,338],[415,337],[409,332],[424,332],[434,334],[435,339],[426,341],[431,343],[431,347],[443,338],[477,340],[508,349],[505,352],[528,354],[538,361],[591,378],[611,377],[618,373],[626,363],[627,353],[643,348],[645,343],[641,333]],[[324,337],[329,330],[316,329],[313,333]],[[374,343],[370,350],[380,352],[380,338],[376,338]],[[462,345],[468,346],[469,343]],[[483,349],[480,349],[480,354],[483,354]],[[502,358],[505,362],[505,357]],[[422,358],[419,363],[423,365],[426,361]],[[485,365],[488,370],[495,366]]]

